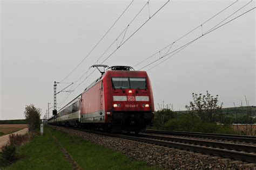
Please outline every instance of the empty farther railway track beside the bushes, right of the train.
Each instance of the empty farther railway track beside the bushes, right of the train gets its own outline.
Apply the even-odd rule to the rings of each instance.
[[[146,130],[145,133],[167,134],[173,136],[186,136],[196,138],[208,138],[217,140],[242,141],[246,143],[256,143],[255,136],[233,135],[233,134],[218,134],[218,133],[198,133],[198,132],[180,132],[180,131],[161,131],[161,130]]]

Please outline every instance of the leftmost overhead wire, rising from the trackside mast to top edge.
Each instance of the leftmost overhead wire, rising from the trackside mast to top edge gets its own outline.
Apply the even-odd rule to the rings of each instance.
[[[125,13],[125,11],[131,6],[131,4],[133,3],[134,0],[131,1],[131,3],[125,8],[125,10],[121,13],[121,15],[117,18],[117,20],[112,24],[112,26],[110,27],[109,30],[106,31],[106,33],[104,34],[104,36],[102,38],[100,38],[100,40],[96,43],[96,45],[91,49],[91,51],[82,59],[82,61],[80,61],[78,63],[78,65],[72,69],[72,71],[64,77],[64,79],[62,79],[62,81],[66,80],[83,62],[84,60],[91,54],[91,52],[98,46],[98,44],[104,39],[104,37],[106,36],[107,33],[109,33],[109,31],[112,29],[112,27],[118,22],[118,20],[123,16],[123,14]],[[62,82],[60,81],[60,82]]]

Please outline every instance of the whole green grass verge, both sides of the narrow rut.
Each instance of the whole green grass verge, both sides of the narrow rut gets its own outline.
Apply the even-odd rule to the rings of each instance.
[[[38,135],[29,144],[19,148],[23,158],[6,169],[73,169],[51,135],[58,139],[83,169],[160,169],[48,126],[44,127],[43,136]]]

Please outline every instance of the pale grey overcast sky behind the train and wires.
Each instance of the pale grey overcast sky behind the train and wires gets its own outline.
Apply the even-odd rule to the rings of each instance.
[[[75,82],[99,58],[147,1],[134,1],[112,30],[65,82]],[[166,1],[150,1],[129,26],[124,40]],[[134,66],[204,23],[235,1],[170,1],[104,64]],[[179,40],[170,51],[205,33],[249,1],[238,1],[217,17]],[[26,104],[43,115],[53,103],[53,82],[61,81],[91,51],[131,1],[1,1],[0,119],[21,119]],[[255,1],[234,16],[253,8]],[[118,39],[118,44],[123,36]],[[116,43],[103,55],[103,61]],[[160,55],[167,52],[161,51]],[[159,54],[141,65],[159,58]],[[163,58],[160,61],[163,61]],[[158,63],[158,62],[156,62]],[[147,70],[154,65],[144,68]],[[192,93],[219,95],[224,107],[255,105],[255,10],[220,27],[148,71],[154,102],[185,110]],[[91,73],[89,70],[89,74]],[[86,76],[86,75],[85,75]],[[63,107],[97,77],[94,72],[64,101]],[[83,80],[84,77],[81,79]],[[80,81],[76,83],[79,84]],[[75,85],[75,86],[76,86]],[[57,91],[67,86],[58,84]],[[71,90],[75,88],[71,87]],[[52,105],[51,105],[52,106]],[[51,113],[51,112],[50,112]]]

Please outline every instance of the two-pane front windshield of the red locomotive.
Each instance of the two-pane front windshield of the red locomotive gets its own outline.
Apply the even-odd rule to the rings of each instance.
[[[144,77],[112,77],[114,89],[146,89]]]

